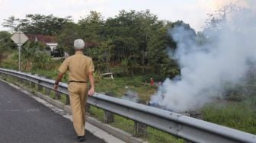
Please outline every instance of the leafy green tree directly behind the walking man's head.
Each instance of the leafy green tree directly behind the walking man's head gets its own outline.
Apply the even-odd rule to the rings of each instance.
[[[75,52],[73,42],[75,39],[80,38],[85,40],[86,54],[94,56],[91,53],[97,52],[98,44],[104,40],[104,37],[102,37],[103,26],[101,14],[91,11],[88,16],[79,20],[78,24],[69,22],[62,26],[58,35],[59,46],[69,54],[73,54]]]

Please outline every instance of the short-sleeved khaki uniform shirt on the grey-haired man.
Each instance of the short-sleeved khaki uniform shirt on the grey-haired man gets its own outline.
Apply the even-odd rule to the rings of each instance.
[[[60,65],[59,72],[64,74],[67,70],[69,70],[69,81],[88,81],[88,72],[94,71],[94,64],[90,57],[78,51]]]

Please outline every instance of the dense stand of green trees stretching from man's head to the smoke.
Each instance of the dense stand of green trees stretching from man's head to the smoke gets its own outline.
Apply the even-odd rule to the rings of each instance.
[[[168,30],[183,21],[171,23],[158,21],[150,11],[120,11],[115,17],[103,20],[101,13],[91,11],[78,24],[69,22],[59,30],[59,46],[69,54],[74,53],[73,41],[85,40],[85,54],[94,59],[95,67],[110,71],[115,65],[125,74],[133,75],[135,69],[159,69],[155,74],[174,76],[179,73],[177,63],[169,59],[167,49],[176,48]],[[187,29],[193,30],[188,24]],[[194,31],[194,30],[193,30]],[[198,37],[203,40],[203,37]]]

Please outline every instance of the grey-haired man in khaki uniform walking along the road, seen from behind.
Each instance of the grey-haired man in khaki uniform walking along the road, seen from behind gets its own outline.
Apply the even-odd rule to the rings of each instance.
[[[92,59],[84,56],[82,49],[85,47],[85,42],[81,39],[75,40],[75,55],[65,59],[59,67],[59,75],[56,79],[54,88],[58,88],[59,81],[62,76],[69,71],[69,99],[72,109],[73,126],[78,141],[85,141],[85,103],[87,95],[94,94],[94,64]],[[88,80],[91,84],[91,89],[88,91]]]

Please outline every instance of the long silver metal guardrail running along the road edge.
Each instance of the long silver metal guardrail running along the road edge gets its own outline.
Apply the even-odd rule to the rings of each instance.
[[[4,68],[0,68],[0,74],[21,78],[53,90],[53,80]],[[67,84],[60,83],[58,91],[68,95],[67,87]],[[93,97],[88,97],[88,103],[189,141],[218,143],[256,142],[256,135],[247,132],[219,126],[167,110],[160,110],[152,106],[108,97],[103,94],[94,94]]]

